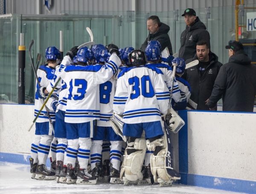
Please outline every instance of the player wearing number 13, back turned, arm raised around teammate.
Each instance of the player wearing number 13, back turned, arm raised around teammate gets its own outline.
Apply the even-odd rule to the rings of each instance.
[[[74,166],[78,157],[80,169],[78,184],[96,184],[96,177],[87,171],[90,156],[91,137],[95,120],[99,120],[99,84],[105,83],[116,73],[121,61],[116,53],[118,47],[110,44],[110,61],[105,66],[88,66],[90,49],[80,48],[77,66],[67,66],[59,76],[67,83],[69,90],[65,122],[67,127],[67,182],[76,181]],[[57,78],[56,78],[57,79]]]

